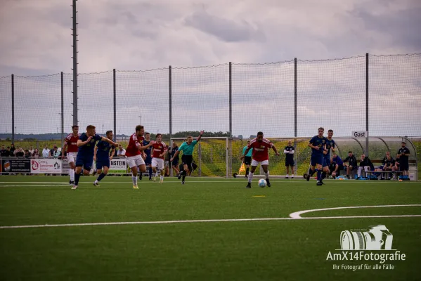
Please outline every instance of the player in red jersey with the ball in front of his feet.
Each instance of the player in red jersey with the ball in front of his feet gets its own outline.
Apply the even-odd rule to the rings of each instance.
[[[262,132],[257,133],[257,138],[254,138],[254,140],[250,141],[250,143],[247,145],[247,149],[243,153],[241,159],[244,159],[245,155],[247,155],[247,152],[249,152],[250,149],[253,148],[253,155],[252,155],[252,170],[249,173],[249,182],[247,183],[247,186],[245,188],[252,188],[252,179],[254,171],[256,171],[257,165],[261,164],[261,168],[264,171],[264,175],[266,176],[266,183],[268,185],[268,188],[271,187],[271,183],[269,182],[269,171],[268,171],[268,164],[269,164],[269,148],[272,148],[275,152],[276,156],[279,156],[279,152],[276,149],[275,145],[271,143],[268,139],[263,137]]]

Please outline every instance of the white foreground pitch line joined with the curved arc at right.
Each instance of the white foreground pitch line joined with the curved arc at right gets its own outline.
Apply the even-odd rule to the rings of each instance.
[[[384,206],[365,206],[368,207],[406,207],[406,206],[421,206],[421,205],[384,205]],[[329,209],[347,209],[356,207],[340,207],[340,208],[329,208]],[[364,208],[364,207],[360,207]],[[307,210],[309,211],[322,211],[325,209]],[[319,216],[319,217],[306,217],[301,216],[290,218],[228,218],[228,219],[209,219],[209,220],[188,220],[188,221],[122,221],[122,222],[111,222],[111,223],[63,223],[63,224],[40,224],[32,226],[0,226],[0,229],[6,228],[57,228],[63,226],[121,226],[121,225],[133,225],[133,224],[168,224],[168,223],[217,223],[217,222],[232,222],[232,221],[297,221],[302,219],[333,219],[333,218],[405,218],[405,217],[421,217],[421,215],[397,215],[397,216]],[[302,213],[304,214],[304,213]]]

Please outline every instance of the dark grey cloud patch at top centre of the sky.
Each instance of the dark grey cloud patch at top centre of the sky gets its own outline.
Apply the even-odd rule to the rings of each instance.
[[[226,42],[265,41],[266,39],[264,32],[254,29],[245,20],[241,24],[238,24],[233,20],[209,15],[205,11],[193,13],[193,15],[185,19],[185,23],[190,27],[207,34],[212,34]]]

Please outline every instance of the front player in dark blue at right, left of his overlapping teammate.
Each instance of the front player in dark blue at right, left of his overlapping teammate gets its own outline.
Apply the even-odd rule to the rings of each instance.
[[[309,141],[309,148],[311,148],[311,160],[310,160],[310,169],[309,174],[304,175],[307,181],[310,181],[310,177],[316,172],[317,166],[317,183],[316,185],[323,185],[320,181],[322,180],[322,168],[323,171],[328,173],[328,166],[324,166],[324,157],[323,152],[327,151],[326,149],[326,138],[323,136],[325,129],[320,127],[318,129],[318,135],[313,136]]]

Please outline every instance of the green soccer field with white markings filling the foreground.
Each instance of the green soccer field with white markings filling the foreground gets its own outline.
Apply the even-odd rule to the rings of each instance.
[[[420,182],[93,180],[0,177],[0,280],[421,280]],[[404,260],[328,259],[373,225]]]

